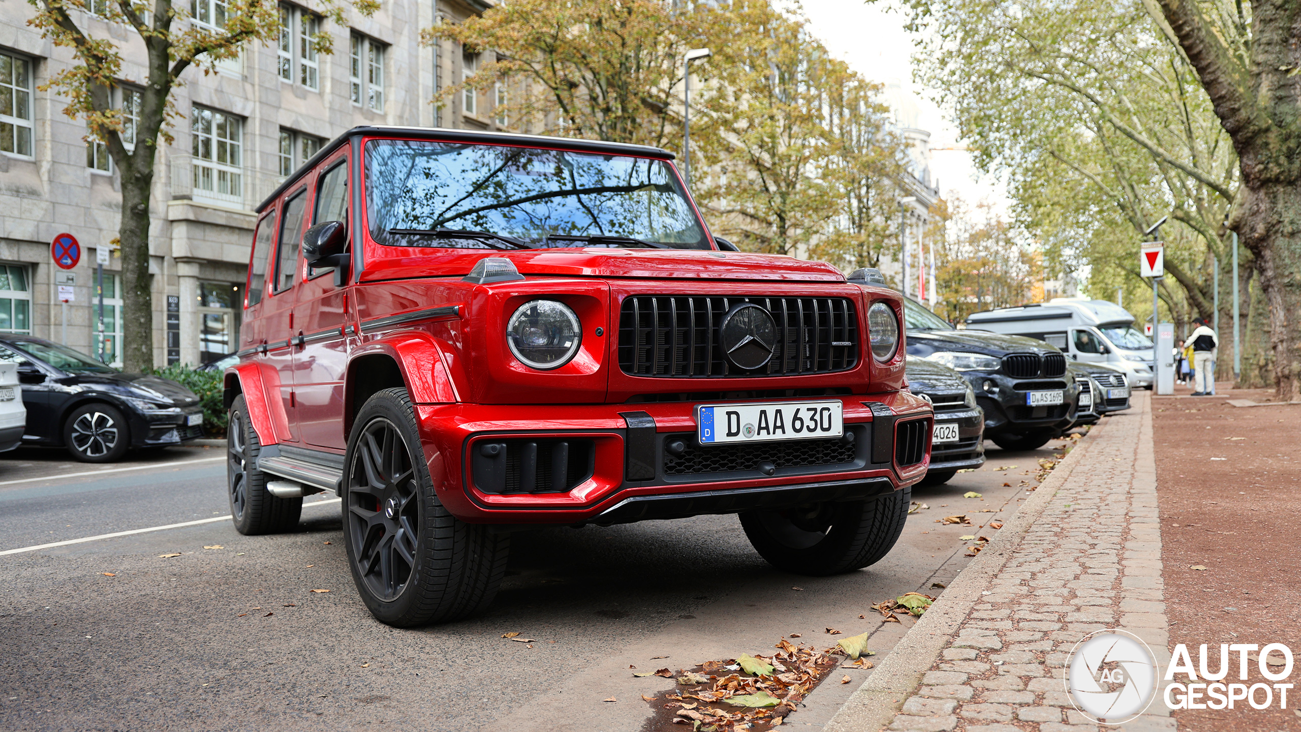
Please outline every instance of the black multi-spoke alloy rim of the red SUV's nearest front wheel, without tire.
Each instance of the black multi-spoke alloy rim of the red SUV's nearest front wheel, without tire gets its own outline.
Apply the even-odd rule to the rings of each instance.
[[[397,426],[372,419],[353,456],[347,511],[356,569],[384,602],[406,590],[416,567],[420,501],[411,453]]]

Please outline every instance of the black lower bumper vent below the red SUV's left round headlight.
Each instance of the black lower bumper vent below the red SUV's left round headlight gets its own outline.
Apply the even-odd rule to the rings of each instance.
[[[475,487],[485,494],[561,494],[592,477],[596,447],[546,438],[480,442],[471,451]]]

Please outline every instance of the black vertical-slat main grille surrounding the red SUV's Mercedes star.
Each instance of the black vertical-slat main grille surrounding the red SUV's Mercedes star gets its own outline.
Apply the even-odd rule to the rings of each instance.
[[[768,310],[777,324],[773,357],[738,369],[723,357],[718,331],[738,302]],[[852,369],[859,318],[843,297],[706,297],[637,294],[619,311],[619,367],[634,376],[719,378],[825,374]]]

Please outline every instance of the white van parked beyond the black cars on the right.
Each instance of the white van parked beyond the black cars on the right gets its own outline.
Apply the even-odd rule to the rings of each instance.
[[[1124,371],[1131,387],[1151,388],[1153,344],[1115,302],[1055,297],[1046,303],[972,313],[968,328],[1047,341],[1076,361]]]

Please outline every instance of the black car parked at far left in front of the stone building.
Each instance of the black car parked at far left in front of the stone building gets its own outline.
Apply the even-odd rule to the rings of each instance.
[[[124,374],[30,336],[0,336],[0,361],[18,365],[27,408],[23,444],[66,447],[77,460],[112,462],[130,448],[203,436],[199,397],[170,379]]]

